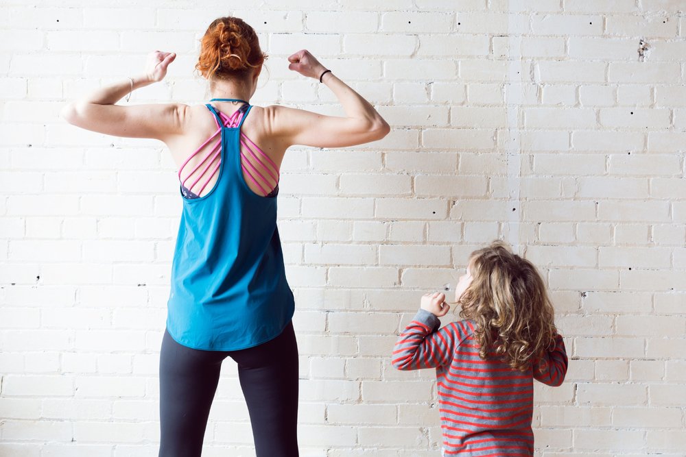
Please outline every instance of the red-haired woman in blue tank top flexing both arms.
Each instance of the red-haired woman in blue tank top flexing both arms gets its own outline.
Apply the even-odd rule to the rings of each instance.
[[[319,79],[345,117],[250,106],[266,55],[239,18],[213,21],[196,69],[211,104],[117,106],[161,81],[176,55],[150,54],[143,75],[101,88],[62,111],[84,129],[163,141],[178,165],[183,201],[160,354],[160,456],[200,456],[224,358],[238,364],[257,456],[297,456],[298,350],[291,324],[276,194],[288,147],[379,140],[388,124],[307,51],[289,69]]]

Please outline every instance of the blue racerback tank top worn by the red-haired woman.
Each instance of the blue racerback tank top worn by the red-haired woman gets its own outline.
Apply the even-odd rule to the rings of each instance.
[[[222,159],[206,195],[181,195],[167,330],[193,349],[233,351],[279,336],[295,306],[276,229],[276,198],[253,192],[241,171],[240,129],[251,107],[237,127],[224,126],[207,107],[222,126]]]

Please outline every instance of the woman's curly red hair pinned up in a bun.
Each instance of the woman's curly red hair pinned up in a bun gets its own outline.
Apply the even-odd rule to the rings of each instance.
[[[215,19],[202,40],[196,70],[206,79],[244,77],[267,58],[259,46],[255,29],[243,19]]]

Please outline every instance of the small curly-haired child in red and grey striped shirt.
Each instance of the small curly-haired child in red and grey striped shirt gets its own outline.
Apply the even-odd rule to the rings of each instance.
[[[495,241],[471,254],[455,299],[464,320],[438,330],[445,295],[422,297],[393,366],[436,368],[442,455],[533,456],[533,380],[559,386],[567,373],[541,275]]]

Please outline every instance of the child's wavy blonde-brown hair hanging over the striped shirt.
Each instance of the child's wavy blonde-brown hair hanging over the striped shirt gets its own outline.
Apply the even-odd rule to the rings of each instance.
[[[528,260],[494,241],[469,259],[472,282],[458,304],[460,317],[476,322],[479,355],[496,357],[526,371],[543,351],[554,346],[554,310],[543,278]]]

